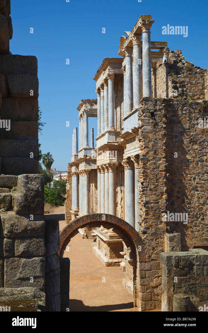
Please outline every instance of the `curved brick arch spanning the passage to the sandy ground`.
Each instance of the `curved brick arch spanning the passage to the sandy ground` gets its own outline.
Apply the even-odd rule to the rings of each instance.
[[[70,239],[77,233],[79,228],[88,225],[99,227],[103,225],[108,229],[112,228],[123,239],[125,244],[131,248],[132,258],[139,262],[146,262],[145,246],[138,232],[126,221],[110,214],[89,214],[84,215],[67,224],[60,232],[59,256],[63,257],[64,250]],[[138,252],[138,247],[141,251]]]

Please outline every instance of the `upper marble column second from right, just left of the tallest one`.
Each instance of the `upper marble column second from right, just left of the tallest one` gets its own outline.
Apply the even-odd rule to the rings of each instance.
[[[142,62],[141,62],[141,35],[133,35],[133,95],[134,108],[139,108],[142,99]]]

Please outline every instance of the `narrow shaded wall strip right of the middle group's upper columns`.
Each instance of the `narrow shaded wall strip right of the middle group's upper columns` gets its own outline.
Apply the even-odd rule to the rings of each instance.
[[[115,128],[120,131],[124,127],[124,76],[115,75],[114,78],[115,98]]]

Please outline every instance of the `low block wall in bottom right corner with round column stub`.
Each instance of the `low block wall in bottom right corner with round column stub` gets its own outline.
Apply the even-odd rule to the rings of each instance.
[[[207,263],[208,251],[202,249],[161,253],[162,311],[204,309],[208,302]]]

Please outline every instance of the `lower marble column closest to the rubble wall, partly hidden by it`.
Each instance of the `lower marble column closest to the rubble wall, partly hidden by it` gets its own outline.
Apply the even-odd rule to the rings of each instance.
[[[140,204],[139,204],[139,156],[134,156],[132,158],[132,161],[134,163],[134,170],[135,170],[135,229],[137,231],[140,231]]]

